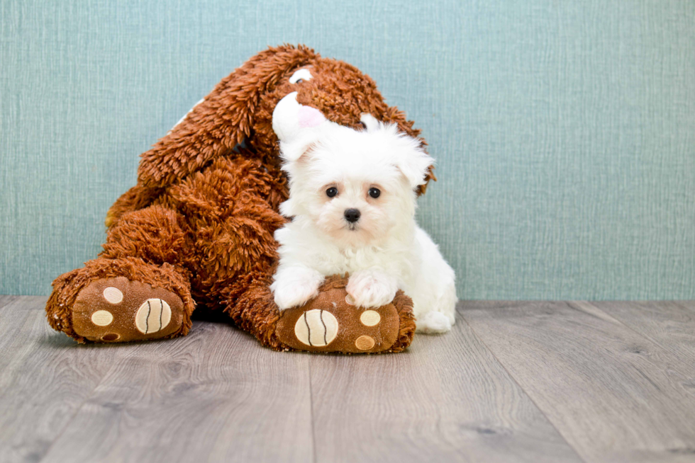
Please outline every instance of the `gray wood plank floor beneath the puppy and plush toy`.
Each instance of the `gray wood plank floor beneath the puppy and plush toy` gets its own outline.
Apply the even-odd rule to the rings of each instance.
[[[395,355],[77,345],[0,297],[1,462],[695,462],[694,302],[462,302]]]

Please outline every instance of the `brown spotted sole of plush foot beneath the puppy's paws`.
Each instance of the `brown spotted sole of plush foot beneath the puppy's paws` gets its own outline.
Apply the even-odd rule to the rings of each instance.
[[[282,343],[297,350],[374,353],[394,345],[399,324],[393,304],[377,309],[355,307],[345,288],[337,287],[321,292],[304,307],[283,310],[275,333]]]

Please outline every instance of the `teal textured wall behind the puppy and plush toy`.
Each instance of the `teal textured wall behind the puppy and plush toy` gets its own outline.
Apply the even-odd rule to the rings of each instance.
[[[695,298],[692,1],[0,2],[0,294],[96,256],[138,155],[245,59],[372,76],[465,299]]]

